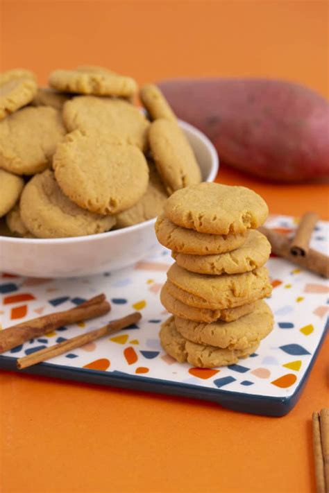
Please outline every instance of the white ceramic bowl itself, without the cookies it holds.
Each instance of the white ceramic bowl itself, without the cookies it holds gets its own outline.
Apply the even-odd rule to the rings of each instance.
[[[180,121],[201,168],[203,181],[212,182],[219,168],[210,140]],[[90,236],[25,239],[0,236],[0,270],[31,277],[75,277],[129,266],[158,248],[155,219]]]

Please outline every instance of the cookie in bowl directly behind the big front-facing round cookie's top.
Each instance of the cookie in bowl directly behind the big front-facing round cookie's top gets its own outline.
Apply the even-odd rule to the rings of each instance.
[[[126,142],[142,150],[147,146],[149,121],[127,101],[96,96],[77,96],[63,108],[63,121],[69,132],[96,131],[113,141]]]

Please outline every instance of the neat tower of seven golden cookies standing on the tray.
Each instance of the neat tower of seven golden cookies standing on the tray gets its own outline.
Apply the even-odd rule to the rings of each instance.
[[[273,328],[262,300],[271,294],[264,267],[271,245],[255,230],[267,214],[264,200],[244,187],[201,183],[167,199],[155,232],[176,262],[160,295],[173,315],[160,340],[177,361],[237,363]]]

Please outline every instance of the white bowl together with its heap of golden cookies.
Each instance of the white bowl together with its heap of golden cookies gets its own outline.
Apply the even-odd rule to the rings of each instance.
[[[135,105],[139,96],[142,103]],[[104,67],[0,74],[0,270],[76,277],[159,248],[168,196],[213,181],[217,152],[155,85]]]

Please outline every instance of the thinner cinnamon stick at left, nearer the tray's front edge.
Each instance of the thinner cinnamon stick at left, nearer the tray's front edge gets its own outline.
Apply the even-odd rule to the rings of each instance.
[[[41,361],[46,361],[54,358],[55,356],[66,353],[67,351],[76,349],[76,347],[81,347],[87,343],[90,343],[92,340],[114,334],[121,329],[125,329],[126,327],[137,323],[141,318],[142,315],[140,312],[135,311],[126,317],[112,320],[112,322],[108,323],[108,325],[105,325],[104,327],[101,327],[100,329],[87,332],[86,334],[81,334],[81,336],[73,337],[69,340],[63,341],[62,343],[58,343],[51,347],[47,347],[46,349],[41,349],[40,351],[29,354],[28,356],[24,356],[24,358],[17,359],[17,368],[22,370],[28,366],[35,365]]]

